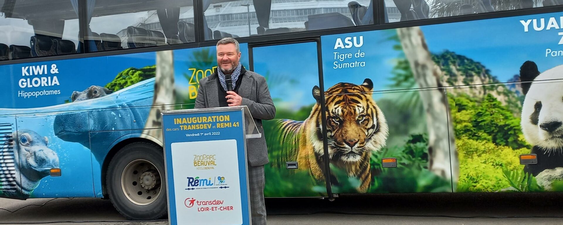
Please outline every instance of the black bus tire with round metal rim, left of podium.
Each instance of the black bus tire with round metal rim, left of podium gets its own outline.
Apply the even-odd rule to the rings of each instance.
[[[154,221],[167,215],[166,177],[162,147],[131,143],[111,159],[106,190],[120,214],[132,221]]]

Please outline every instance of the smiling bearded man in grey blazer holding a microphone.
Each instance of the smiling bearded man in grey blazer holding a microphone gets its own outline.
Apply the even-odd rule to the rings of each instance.
[[[262,120],[274,119],[276,108],[266,79],[240,64],[239,43],[234,38],[217,42],[217,70],[199,80],[195,108],[245,105],[252,114],[261,138],[247,139],[248,185],[252,225],[266,224],[264,165],[269,163]],[[229,79],[230,77],[230,79]],[[229,87],[227,85],[231,84]],[[232,91],[229,91],[232,90]]]

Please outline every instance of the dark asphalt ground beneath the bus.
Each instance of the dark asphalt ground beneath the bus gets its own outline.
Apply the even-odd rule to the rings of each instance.
[[[563,224],[562,200],[563,193],[369,194],[267,199],[266,208],[273,225]],[[0,208],[0,224],[168,224],[128,222],[101,199],[0,199]]]

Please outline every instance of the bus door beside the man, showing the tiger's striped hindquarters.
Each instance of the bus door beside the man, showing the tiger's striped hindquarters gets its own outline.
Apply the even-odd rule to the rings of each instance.
[[[266,78],[276,107],[275,119],[262,120],[270,159],[265,197],[332,196],[325,176],[319,41],[249,44],[250,70]]]

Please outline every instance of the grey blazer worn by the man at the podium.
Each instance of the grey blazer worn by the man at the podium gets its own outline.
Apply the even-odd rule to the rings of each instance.
[[[218,68],[217,68],[218,69]],[[247,157],[251,167],[257,167],[269,163],[266,147],[266,138],[262,120],[274,119],[276,108],[270,96],[266,79],[260,74],[252,71],[241,71],[242,80],[238,89],[238,95],[243,98],[242,105],[246,105],[254,118],[254,123],[261,138],[247,139]],[[199,80],[198,96],[195,98],[195,109],[220,107],[217,72]]]

